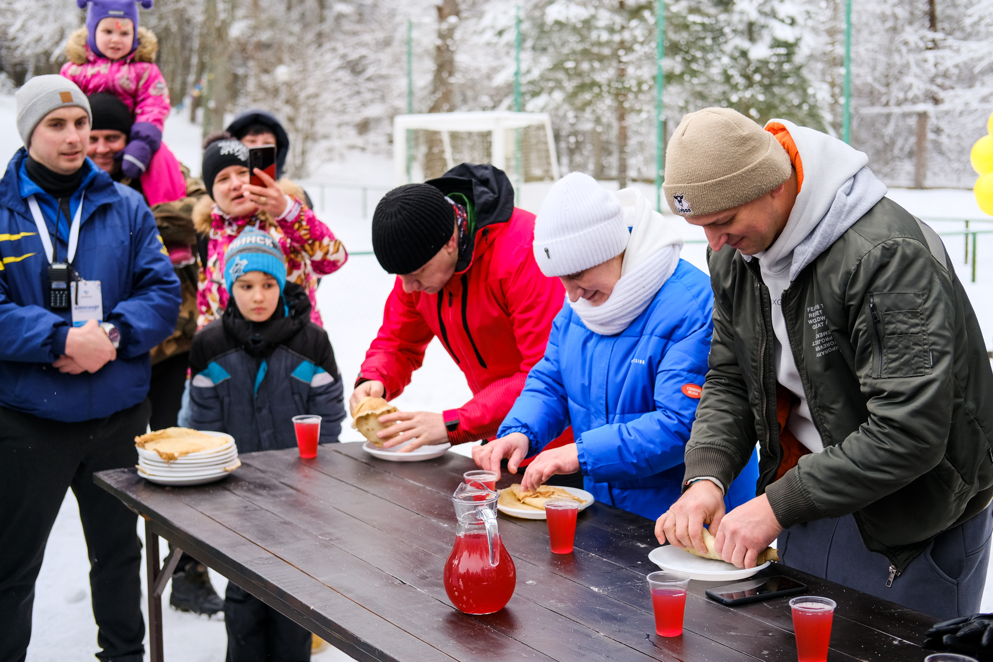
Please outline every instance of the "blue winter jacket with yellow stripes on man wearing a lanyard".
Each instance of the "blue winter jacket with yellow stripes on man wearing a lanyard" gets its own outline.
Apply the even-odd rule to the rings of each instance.
[[[0,406],[66,422],[109,416],[148,394],[148,351],[176,328],[180,282],[145,200],[86,159],[88,172],[70,200],[74,214],[83,199],[72,268],[100,281],[103,320],[120,330],[120,346],[93,374],[53,367],[66,351],[72,314],[48,306],[49,262],[28,197],[38,200],[61,259],[69,223],[60,219],[57,238],[57,202],[28,179],[26,156],[18,150],[0,180]]]

